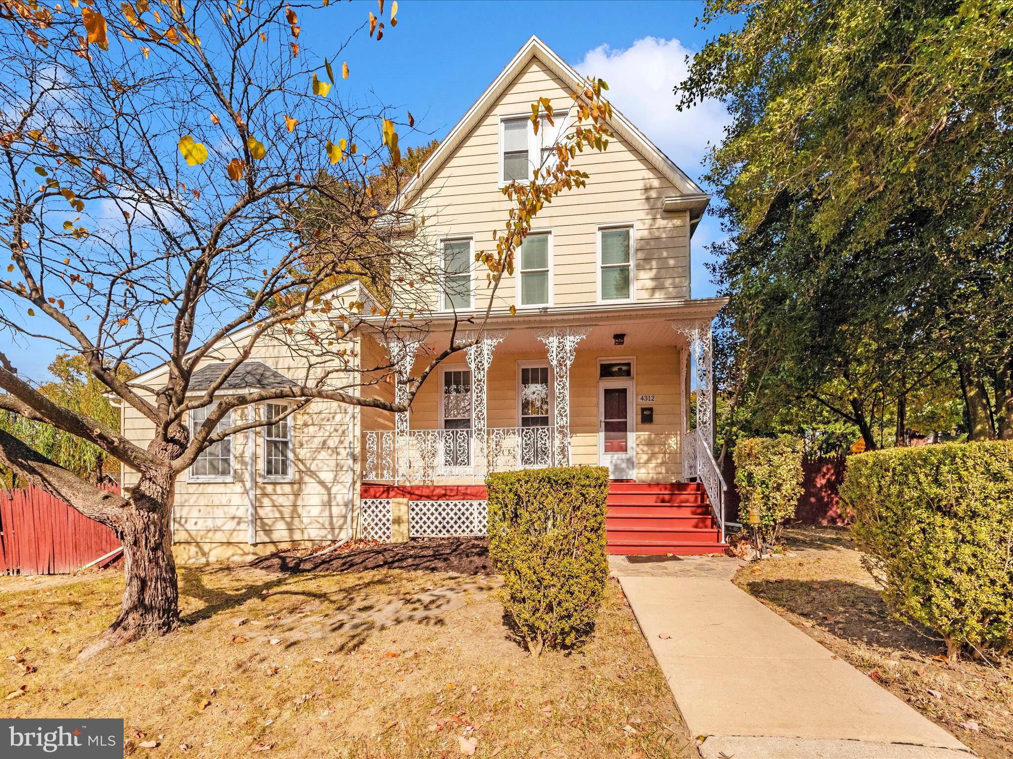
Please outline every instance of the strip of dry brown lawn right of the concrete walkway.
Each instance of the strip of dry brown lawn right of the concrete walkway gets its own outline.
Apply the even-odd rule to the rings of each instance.
[[[982,756],[1013,756],[1010,658],[948,665],[930,630],[890,617],[846,529],[792,529],[787,543],[735,582]]]

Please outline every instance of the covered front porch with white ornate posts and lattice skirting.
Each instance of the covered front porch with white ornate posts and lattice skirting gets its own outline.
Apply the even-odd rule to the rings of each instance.
[[[714,534],[706,542],[723,540],[723,483],[710,452],[709,317],[637,314],[549,326],[529,316],[495,324],[477,338],[465,336],[475,344],[438,366],[408,412],[364,423],[362,514],[364,525],[377,527],[373,536],[390,539],[388,526],[396,532],[402,522],[404,538],[484,534],[486,475],[583,465],[607,467],[614,483],[671,493],[680,483],[699,484],[693,505],[714,511]],[[396,397],[440,344],[439,333],[407,333],[388,344]],[[700,425],[690,429],[694,367]],[[672,505],[668,501],[643,504]],[[403,517],[395,513],[399,508]],[[674,524],[649,523],[648,529],[666,532]]]

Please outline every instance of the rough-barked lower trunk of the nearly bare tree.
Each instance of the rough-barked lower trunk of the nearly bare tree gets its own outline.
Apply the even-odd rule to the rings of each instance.
[[[80,658],[178,626],[179,588],[169,529],[174,497],[175,478],[168,469],[143,475],[134,488],[120,535],[127,580],[120,616]]]

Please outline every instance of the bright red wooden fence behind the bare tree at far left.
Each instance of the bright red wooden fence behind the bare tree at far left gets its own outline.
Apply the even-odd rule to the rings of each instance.
[[[111,529],[37,488],[0,491],[0,575],[66,574],[118,547]]]

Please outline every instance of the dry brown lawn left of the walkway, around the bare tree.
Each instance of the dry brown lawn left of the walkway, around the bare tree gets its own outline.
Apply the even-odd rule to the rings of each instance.
[[[79,662],[122,577],[0,577],[0,686],[25,686],[0,715],[123,718],[151,757],[695,755],[618,586],[582,649],[533,660],[495,584],[184,567],[177,632]]]

